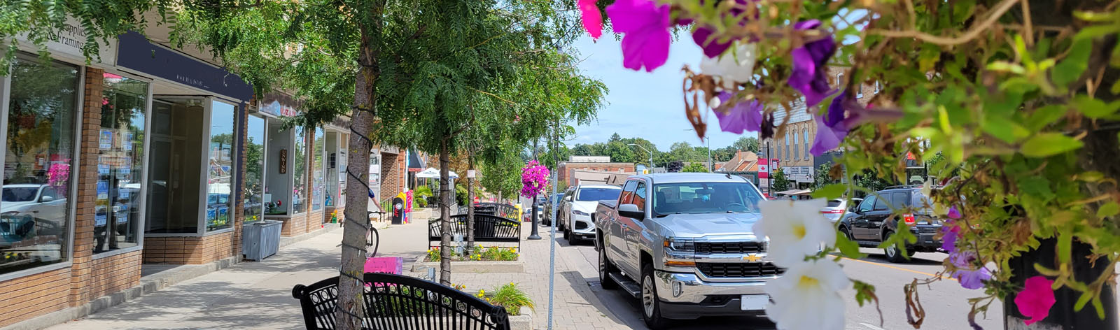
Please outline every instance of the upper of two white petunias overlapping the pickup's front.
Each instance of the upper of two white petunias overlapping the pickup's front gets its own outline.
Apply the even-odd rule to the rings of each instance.
[[[759,237],[769,237],[766,254],[769,260],[783,267],[792,267],[813,255],[823,246],[837,243],[837,233],[832,223],[821,215],[824,199],[813,200],[763,200],[758,204],[762,219],[754,225],[754,233]]]

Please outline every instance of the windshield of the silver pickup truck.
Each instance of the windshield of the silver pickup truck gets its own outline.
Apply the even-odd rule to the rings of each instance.
[[[757,213],[762,195],[748,182],[680,182],[654,185],[653,213]]]

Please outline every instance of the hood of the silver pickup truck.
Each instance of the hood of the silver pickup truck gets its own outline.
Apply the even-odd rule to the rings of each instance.
[[[704,235],[754,234],[752,227],[762,216],[752,214],[681,214],[657,218],[662,228],[674,237],[701,237]]]

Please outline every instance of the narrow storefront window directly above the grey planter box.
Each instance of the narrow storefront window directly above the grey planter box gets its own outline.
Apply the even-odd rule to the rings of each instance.
[[[245,128],[245,183],[243,187],[245,223],[261,219],[264,207],[264,119],[251,115]]]

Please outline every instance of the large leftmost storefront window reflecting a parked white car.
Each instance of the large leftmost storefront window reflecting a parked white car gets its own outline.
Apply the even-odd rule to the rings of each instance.
[[[78,68],[17,55],[0,198],[0,273],[69,257]]]

